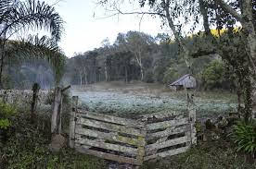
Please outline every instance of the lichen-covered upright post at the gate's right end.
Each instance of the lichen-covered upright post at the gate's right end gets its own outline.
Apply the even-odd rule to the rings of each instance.
[[[187,93],[187,110],[188,110],[188,119],[189,119],[189,127],[187,132],[188,137],[190,139],[189,144],[197,144],[197,130],[196,130],[196,104],[193,100],[193,95]]]

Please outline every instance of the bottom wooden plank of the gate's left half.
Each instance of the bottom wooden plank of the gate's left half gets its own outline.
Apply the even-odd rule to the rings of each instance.
[[[116,161],[116,162],[119,162],[119,163],[131,163],[131,164],[135,164],[135,165],[141,165],[142,164],[134,158],[123,157],[123,156],[120,156],[120,155],[114,155],[114,154],[101,152],[101,151],[88,150],[88,149],[84,149],[80,145],[75,145],[75,150],[79,151],[81,153],[94,155],[94,156],[99,157],[99,158],[108,159],[108,160]]]

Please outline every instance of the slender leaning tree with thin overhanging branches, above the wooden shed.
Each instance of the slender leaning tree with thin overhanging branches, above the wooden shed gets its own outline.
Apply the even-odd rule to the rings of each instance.
[[[191,0],[192,1],[192,0]],[[178,42],[179,46],[182,49],[180,55],[186,60],[186,66],[190,69],[191,66],[191,57],[190,51],[186,45],[184,34],[182,30],[185,28],[186,24],[192,19],[197,22],[198,18],[190,15],[192,11],[195,13],[198,12],[197,6],[190,3],[190,0],[140,0],[138,5],[141,7],[141,10],[133,12],[124,12],[121,9],[121,5],[125,4],[120,0],[98,0],[102,6],[110,7],[109,11],[115,11],[116,15],[150,15],[153,17],[160,17],[163,25],[168,25],[169,29],[172,30],[175,41]],[[126,1],[126,3],[132,3],[133,1]],[[134,0],[134,4],[137,5],[137,1]],[[190,6],[192,5],[192,6]],[[149,6],[149,8],[148,8]],[[144,8],[145,7],[145,8]],[[145,9],[145,11],[143,11]],[[127,11],[127,9],[125,10]],[[114,15],[114,14],[112,14]],[[181,22],[183,20],[183,22]],[[193,30],[194,28],[192,28]]]

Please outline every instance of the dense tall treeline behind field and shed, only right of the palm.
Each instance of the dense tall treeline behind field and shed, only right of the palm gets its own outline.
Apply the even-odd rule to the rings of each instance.
[[[193,36],[186,38],[191,48],[196,41]],[[193,58],[189,69],[180,56],[180,46],[167,34],[153,38],[138,31],[119,33],[113,44],[106,39],[100,48],[75,54],[67,61],[65,77],[80,85],[112,80],[169,84],[188,73],[197,78],[200,89],[230,89],[235,85],[218,55]]]

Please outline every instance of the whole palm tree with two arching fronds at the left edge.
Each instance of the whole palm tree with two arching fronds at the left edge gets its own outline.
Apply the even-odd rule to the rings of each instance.
[[[22,30],[47,30],[51,38],[29,37],[19,42],[9,41],[17,32]],[[5,58],[14,54],[24,56],[45,57],[59,75],[64,54],[58,49],[58,41],[63,31],[63,20],[54,6],[38,0],[1,0],[0,3],[0,89]],[[60,65],[60,66],[59,66]]]

